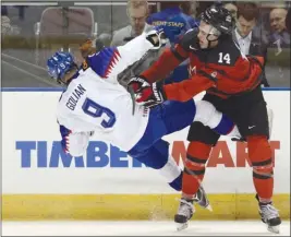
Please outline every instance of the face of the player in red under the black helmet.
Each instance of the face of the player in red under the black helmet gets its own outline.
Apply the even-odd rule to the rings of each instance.
[[[198,33],[201,48],[215,47],[217,45],[218,35],[215,35],[215,32],[214,26],[203,21],[201,22]]]

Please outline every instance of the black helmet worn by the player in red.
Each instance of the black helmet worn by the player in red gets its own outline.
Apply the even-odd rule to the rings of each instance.
[[[213,5],[206,9],[202,13],[201,20],[214,26],[221,34],[227,35],[231,34],[235,24],[230,11],[228,11],[221,5]]]

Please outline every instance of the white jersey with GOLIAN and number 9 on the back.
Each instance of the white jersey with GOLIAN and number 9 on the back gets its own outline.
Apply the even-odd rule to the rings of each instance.
[[[84,154],[90,132],[125,152],[143,137],[149,110],[136,105],[132,115],[131,95],[118,83],[118,74],[153,47],[143,34],[124,46],[105,48],[83,63],[57,109],[65,150],[72,156]]]

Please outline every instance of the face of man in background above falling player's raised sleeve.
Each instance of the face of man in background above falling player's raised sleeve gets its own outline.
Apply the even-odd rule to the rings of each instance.
[[[147,11],[146,8],[141,5],[136,9],[130,9],[129,11],[131,25],[135,32],[136,35],[141,35],[144,31],[146,17],[147,17]]]

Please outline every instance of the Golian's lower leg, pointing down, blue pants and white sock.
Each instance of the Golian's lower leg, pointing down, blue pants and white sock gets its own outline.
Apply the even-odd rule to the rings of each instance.
[[[182,169],[170,155],[168,142],[160,139],[147,150],[140,151],[138,146],[132,149],[129,155],[147,167],[157,169],[171,188],[181,191]]]

